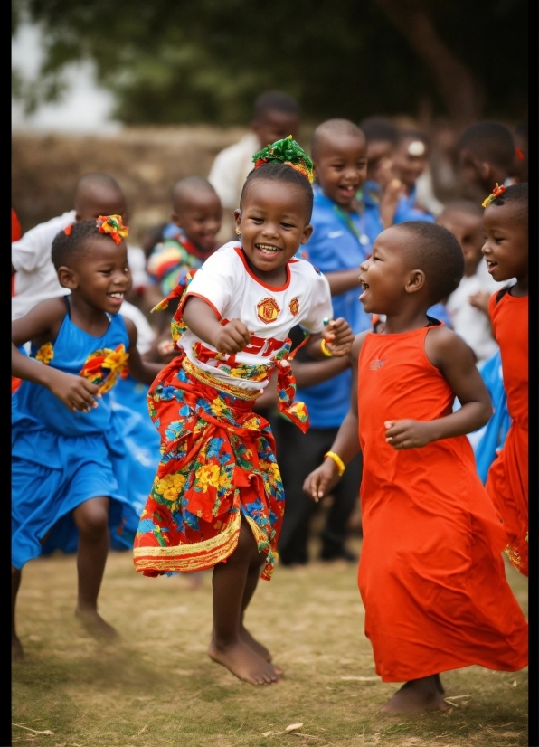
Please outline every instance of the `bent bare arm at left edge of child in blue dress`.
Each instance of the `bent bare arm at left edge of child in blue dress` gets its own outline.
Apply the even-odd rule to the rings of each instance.
[[[66,315],[63,298],[51,298],[33,307],[25,317],[16,319],[12,324],[12,375],[19,379],[46,386],[55,397],[65,404],[71,412],[77,410],[90,412],[98,403],[99,386],[90,383],[82,376],[65,373],[28,358],[17,350],[29,340],[53,342],[58,336],[61,323]]]

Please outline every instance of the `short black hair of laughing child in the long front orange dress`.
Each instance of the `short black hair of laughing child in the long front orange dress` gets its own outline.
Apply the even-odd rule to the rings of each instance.
[[[456,237],[437,223],[406,221],[392,228],[407,232],[403,251],[413,269],[422,269],[427,279],[430,304],[437,304],[456,290],[464,275],[464,254]]]

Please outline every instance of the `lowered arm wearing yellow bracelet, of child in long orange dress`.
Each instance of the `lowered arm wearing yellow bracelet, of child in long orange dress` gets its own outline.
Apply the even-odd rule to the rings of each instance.
[[[362,332],[355,337],[354,345],[349,357],[349,363],[352,366],[352,391],[350,393],[350,410],[345,420],[341,423],[336,434],[336,440],[330,451],[336,453],[344,464],[348,464],[359,451],[359,413],[357,410],[357,363],[361,347],[364,343],[366,332]],[[317,467],[310,475],[307,476],[303,483],[303,490],[309,498],[318,503],[327,493],[336,486],[340,476],[336,462],[327,457],[320,467]]]

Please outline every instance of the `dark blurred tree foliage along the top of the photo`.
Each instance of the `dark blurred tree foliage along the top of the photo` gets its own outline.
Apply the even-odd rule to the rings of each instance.
[[[95,61],[99,81],[117,96],[118,118],[128,124],[243,123],[253,98],[271,89],[297,97],[312,120],[413,114],[422,99],[447,114],[440,76],[407,38],[406,17],[401,27],[393,24],[383,5],[14,0],[13,30],[24,13],[41,24],[43,90],[50,95],[60,90],[67,62]],[[405,5],[428,16],[441,43],[477,81],[481,114],[525,117],[526,0],[408,0],[401,16]]]

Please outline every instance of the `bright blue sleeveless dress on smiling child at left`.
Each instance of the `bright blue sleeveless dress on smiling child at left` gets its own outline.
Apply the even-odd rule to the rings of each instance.
[[[68,302],[66,302],[67,304]],[[98,355],[128,349],[123,319],[109,317],[109,328],[93,337],[66,314],[49,355],[41,359],[66,373],[85,368],[89,378],[112,383],[117,373],[96,365]],[[43,348],[42,348],[43,350]],[[38,351],[33,347],[31,356]],[[51,359],[52,354],[52,359]],[[38,355],[38,357],[40,357]],[[114,355],[112,355],[114,358]],[[50,360],[49,360],[50,359]],[[99,358],[98,358],[99,361]],[[112,378],[110,378],[112,377]],[[112,545],[130,548],[138,515],[128,501],[128,452],[114,422],[110,392],[104,392],[91,412],[71,412],[48,389],[24,381],[12,406],[12,563],[24,563],[43,552],[76,549],[78,532],[71,512],[84,501],[109,496]],[[118,483],[119,480],[119,483]],[[52,529],[42,547],[40,540]]]

